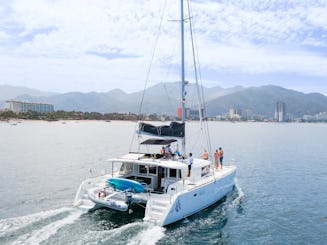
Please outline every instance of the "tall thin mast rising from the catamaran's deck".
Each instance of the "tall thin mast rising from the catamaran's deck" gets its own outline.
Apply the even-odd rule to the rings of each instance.
[[[181,0],[181,82],[182,82],[182,123],[185,124],[185,70],[184,70],[184,0]],[[185,126],[184,137],[182,139],[182,153],[185,154]]]

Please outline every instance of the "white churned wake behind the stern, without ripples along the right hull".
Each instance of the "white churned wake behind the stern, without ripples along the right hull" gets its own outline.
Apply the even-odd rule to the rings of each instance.
[[[165,228],[136,221],[108,227],[79,209],[63,207],[0,220],[0,244],[156,244]]]

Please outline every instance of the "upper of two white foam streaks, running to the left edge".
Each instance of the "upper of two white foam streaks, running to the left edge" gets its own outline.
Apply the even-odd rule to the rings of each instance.
[[[26,216],[7,218],[0,220],[0,235],[5,235],[6,233],[16,231],[18,229],[24,228],[35,222],[43,219],[50,218],[52,216],[58,215],[63,212],[72,210],[72,208],[63,207],[59,209],[42,211],[35,214],[29,214]]]

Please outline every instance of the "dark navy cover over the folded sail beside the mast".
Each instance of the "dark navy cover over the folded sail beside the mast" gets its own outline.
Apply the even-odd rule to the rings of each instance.
[[[154,126],[149,123],[141,122],[139,124],[139,132],[155,136],[170,136],[183,138],[185,135],[185,124],[171,122],[170,125]]]

